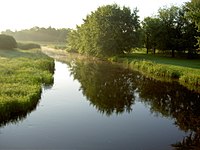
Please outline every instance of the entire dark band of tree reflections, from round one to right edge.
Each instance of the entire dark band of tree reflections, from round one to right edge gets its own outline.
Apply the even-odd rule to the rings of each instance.
[[[81,83],[83,94],[106,115],[130,112],[134,93],[150,106],[152,113],[170,117],[181,130],[192,133],[172,144],[177,149],[200,143],[200,94],[177,82],[161,82],[105,62],[73,61],[71,74]],[[187,145],[186,145],[187,143]]]

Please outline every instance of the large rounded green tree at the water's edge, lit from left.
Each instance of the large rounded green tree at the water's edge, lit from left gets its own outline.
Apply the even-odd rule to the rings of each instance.
[[[116,4],[99,7],[71,32],[71,50],[94,56],[130,52],[138,43],[137,12],[137,9],[131,12],[129,8],[120,8]]]

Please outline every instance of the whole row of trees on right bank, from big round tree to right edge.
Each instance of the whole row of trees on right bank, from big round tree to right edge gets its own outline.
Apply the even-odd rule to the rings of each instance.
[[[196,9],[195,9],[196,8]],[[156,16],[139,20],[138,10],[117,4],[99,7],[71,30],[68,50],[93,56],[129,53],[132,48],[145,47],[147,53],[156,49],[163,53],[187,53],[193,56],[199,48],[200,1],[183,6],[164,7]]]

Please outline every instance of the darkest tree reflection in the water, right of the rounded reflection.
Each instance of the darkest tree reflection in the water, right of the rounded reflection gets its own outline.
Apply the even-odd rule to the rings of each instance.
[[[172,144],[173,147],[200,147],[200,94],[176,82],[143,78],[137,85],[141,100],[149,104],[152,112],[175,119],[181,130],[191,132],[183,141]]]

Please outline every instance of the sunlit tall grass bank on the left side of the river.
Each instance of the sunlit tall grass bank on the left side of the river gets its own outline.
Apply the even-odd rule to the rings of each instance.
[[[0,50],[0,125],[36,107],[53,71],[53,59],[39,50]]]

